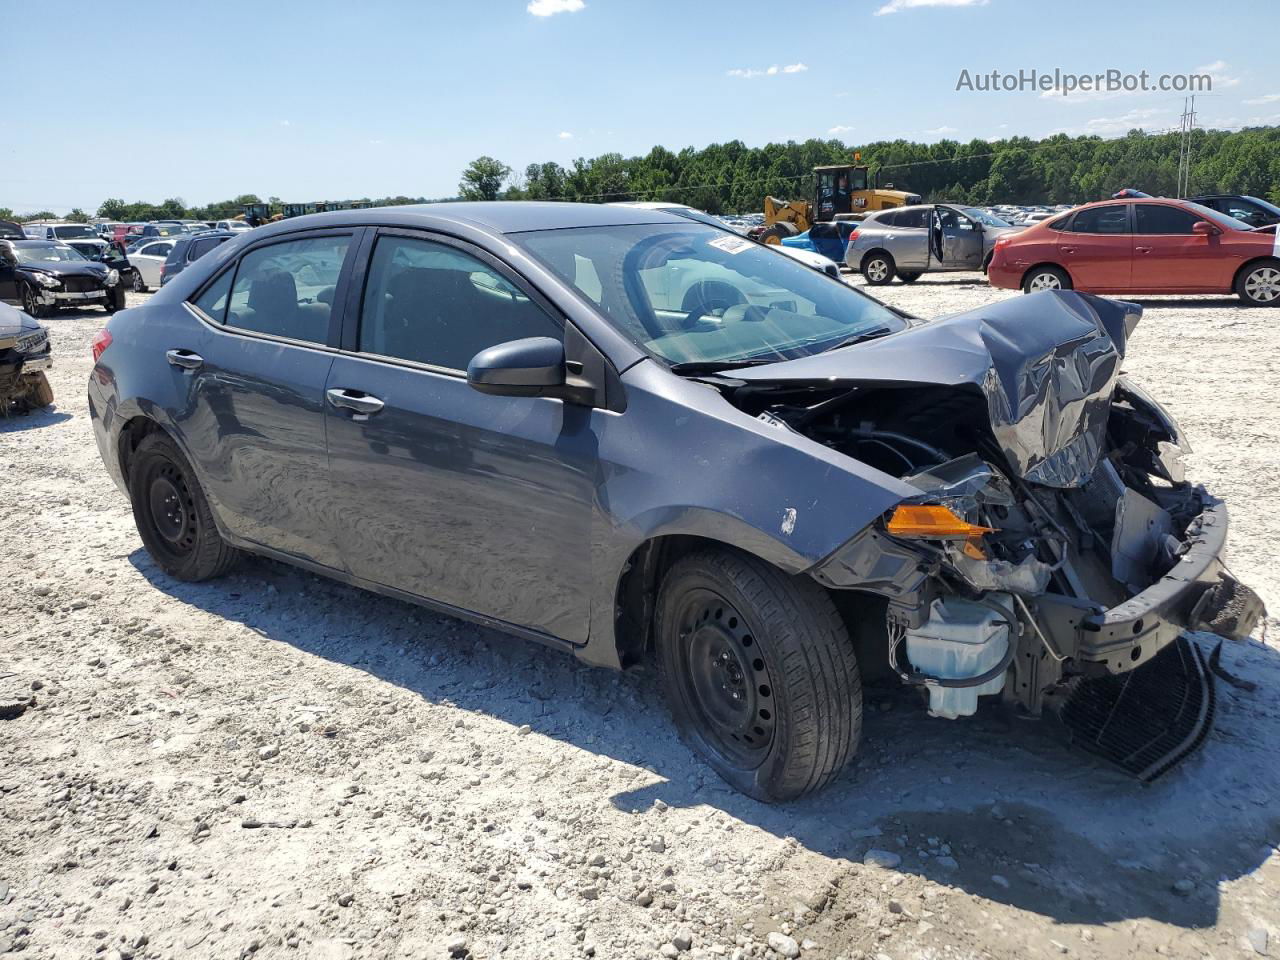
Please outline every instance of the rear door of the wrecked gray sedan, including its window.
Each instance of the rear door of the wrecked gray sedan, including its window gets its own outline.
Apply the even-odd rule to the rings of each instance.
[[[255,247],[192,302],[210,323],[155,332],[187,384],[172,416],[223,526],[335,570],[324,385],[353,246],[338,230]]]

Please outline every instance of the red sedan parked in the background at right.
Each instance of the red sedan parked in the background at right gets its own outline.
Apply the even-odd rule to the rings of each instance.
[[[1280,237],[1185,200],[1087,204],[996,241],[992,287],[1231,293],[1280,306]]]

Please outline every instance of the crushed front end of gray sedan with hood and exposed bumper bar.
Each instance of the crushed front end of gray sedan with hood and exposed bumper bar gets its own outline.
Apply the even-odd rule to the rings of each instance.
[[[737,402],[919,492],[812,573],[887,600],[888,662],[931,713],[1000,695],[1149,778],[1212,717],[1185,634],[1243,637],[1263,611],[1224,567],[1226,509],[1183,477],[1178,426],[1120,375],[1139,316],[1019,298],[868,344],[856,378],[749,383]]]

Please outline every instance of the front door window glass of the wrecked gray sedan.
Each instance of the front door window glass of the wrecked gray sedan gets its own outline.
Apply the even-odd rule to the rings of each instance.
[[[381,237],[360,314],[360,349],[466,370],[480,351],[559,323],[481,260],[444,243]]]

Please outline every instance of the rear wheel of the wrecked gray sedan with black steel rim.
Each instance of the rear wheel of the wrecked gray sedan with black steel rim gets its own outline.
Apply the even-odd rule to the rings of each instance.
[[[239,559],[214,524],[191,465],[169,436],[142,438],[129,462],[133,522],[147,553],[177,580],[210,580]]]

